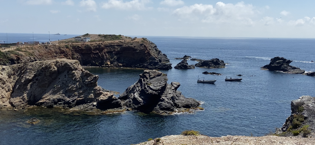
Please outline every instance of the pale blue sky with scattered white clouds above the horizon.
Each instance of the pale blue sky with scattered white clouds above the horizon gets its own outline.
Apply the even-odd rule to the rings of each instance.
[[[314,0],[0,0],[0,33],[315,38]]]

